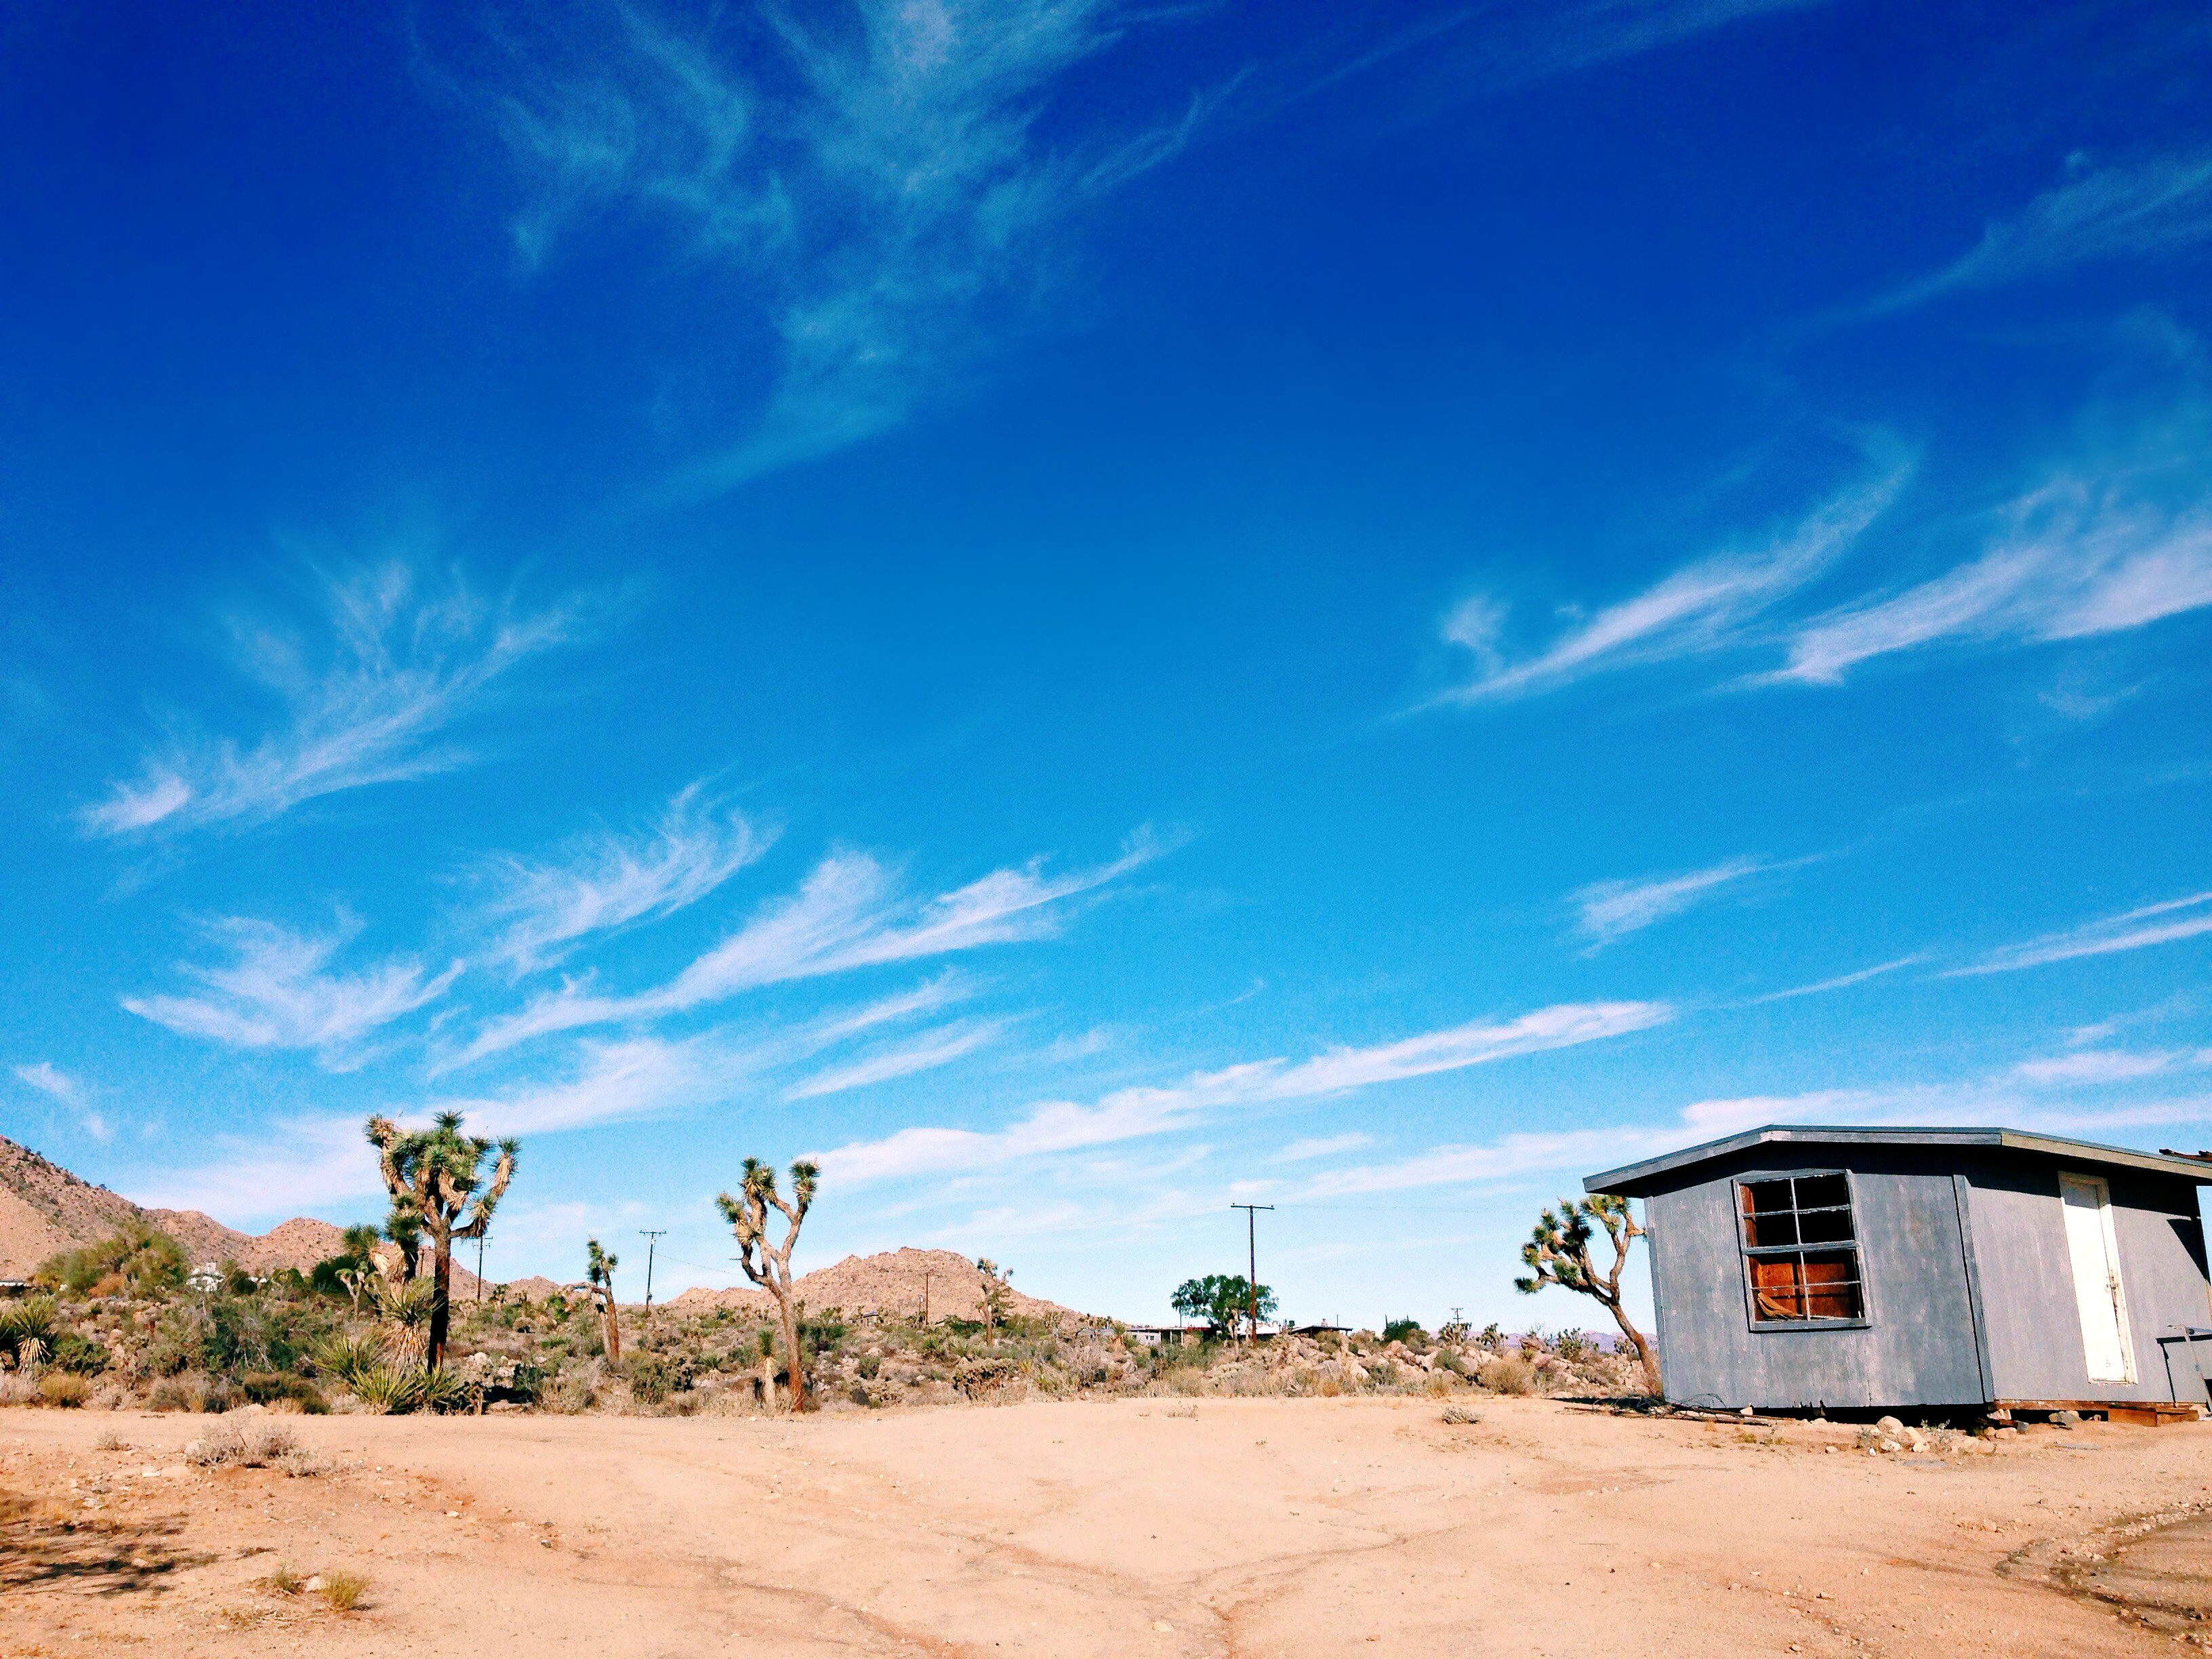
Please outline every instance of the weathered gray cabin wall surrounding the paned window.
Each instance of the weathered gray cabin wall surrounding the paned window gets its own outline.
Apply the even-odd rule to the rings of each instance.
[[[1666,1396],[1721,1407],[1978,1405],[1955,1157],[1916,1148],[1747,1148],[1652,1192],[1652,1292]],[[1734,1179],[1849,1168],[1867,1325],[1754,1327],[1736,1248]],[[2057,1188],[2053,1188],[2055,1192]],[[2212,1360],[2212,1356],[2208,1356]]]

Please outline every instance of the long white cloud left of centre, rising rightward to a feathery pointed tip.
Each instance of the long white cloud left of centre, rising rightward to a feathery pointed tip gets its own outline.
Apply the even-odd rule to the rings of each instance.
[[[487,1024],[453,1064],[553,1031],[681,1013],[768,984],[1046,938],[1060,929],[1071,900],[1106,887],[1159,852],[1159,841],[1137,834],[1119,858],[1095,869],[1051,876],[1042,860],[1031,860],[933,898],[907,894],[896,872],[869,854],[832,854],[796,894],[763,905],[668,984],[633,995],[564,987]]]

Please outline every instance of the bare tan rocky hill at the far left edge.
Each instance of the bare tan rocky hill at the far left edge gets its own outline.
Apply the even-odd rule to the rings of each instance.
[[[199,1210],[146,1210],[0,1135],[0,1279],[22,1279],[58,1250],[75,1250],[144,1221],[192,1263],[237,1261],[248,1272],[305,1272],[338,1252],[338,1230],[305,1217],[263,1234],[234,1232]]]

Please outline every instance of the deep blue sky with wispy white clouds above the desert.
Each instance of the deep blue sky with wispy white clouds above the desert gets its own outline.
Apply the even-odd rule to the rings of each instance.
[[[2212,1141],[2201,9],[341,11],[0,22],[7,1135],[1509,1325],[1728,1128]]]

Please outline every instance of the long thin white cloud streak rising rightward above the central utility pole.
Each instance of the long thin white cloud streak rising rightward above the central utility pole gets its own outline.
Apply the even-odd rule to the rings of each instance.
[[[1371,1048],[1332,1048],[1314,1060],[1256,1060],[1199,1073],[1166,1088],[1121,1088],[1095,1106],[1046,1102],[1002,1130],[902,1128],[878,1141],[852,1141],[821,1155],[823,1170],[845,1183],[887,1181],[942,1170],[973,1170],[1048,1152],[1186,1128],[1203,1113],[1318,1099],[1371,1084],[1460,1071],[1513,1055],[1571,1048],[1672,1018],[1663,1002],[1564,1002],[1504,1024],[1464,1024]]]

